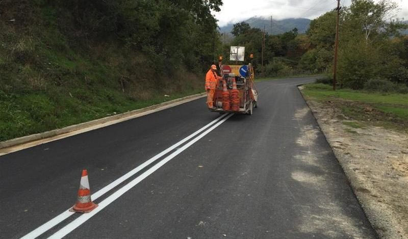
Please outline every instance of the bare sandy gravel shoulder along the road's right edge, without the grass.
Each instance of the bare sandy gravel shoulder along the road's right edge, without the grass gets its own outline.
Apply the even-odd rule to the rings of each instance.
[[[379,237],[408,238],[408,134],[350,120],[329,102],[303,97]]]

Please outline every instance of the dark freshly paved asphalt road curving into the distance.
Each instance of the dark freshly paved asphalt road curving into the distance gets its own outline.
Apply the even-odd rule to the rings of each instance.
[[[202,98],[0,156],[0,237],[376,238],[296,88],[311,81],[258,83],[252,116]],[[75,202],[83,168],[98,192],[213,120],[100,195],[97,213],[38,229]]]

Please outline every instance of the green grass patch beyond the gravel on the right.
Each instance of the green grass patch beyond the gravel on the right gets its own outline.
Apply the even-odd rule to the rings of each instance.
[[[408,131],[408,94],[368,93],[350,89],[333,91],[324,84],[307,84],[305,97],[341,109],[343,124],[351,128],[365,125]],[[361,122],[352,122],[356,120]]]

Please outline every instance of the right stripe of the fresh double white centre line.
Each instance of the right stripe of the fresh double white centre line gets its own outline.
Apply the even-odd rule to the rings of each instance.
[[[234,114],[230,114],[227,117],[225,117],[223,120],[219,121],[218,123],[216,123],[215,125],[213,125],[211,128],[207,129],[205,132],[203,132],[201,135],[197,136],[196,138],[194,138],[193,140],[191,140],[190,142],[188,142],[187,144],[185,144],[183,147],[177,149],[176,151],[174,151],[173,153],[171,153],[170,155],[168,155],[167,157],[165,157],[162,161],[160,161],[159,163],[157,163],[156,165],[154,165],[153,167],[149,168],[148,170],[146,170],[146,172],[142,173],[140,176],[138,176],[137,178],[133,179],[132,181],[130,181],[129,183],[127,183],[126,185],[124,185],[122,188],[120,188],[118,191],[116,191],[115,193],[113,193],[112,195],[110,195],[109,197],[107,197],[105,200],[101,201],[98,203],[98,207],[96,207],[95,209],[93,209],[90,213],[88,214],[83,214],[81,215],[79,218],[73,220],[72,222],[70,222],[68,225],[66,225],[65,227],[61,228],[59,231],[57,231],[56,233],[54,233],[53,235],[49,236],[48,239],[54,239],[54,238],[62,238],[65,235],[67,235],[68,233],[70,233],[71,231],[73,231],[75,228],[81,226],[84,222],[86,222],[88,219],[90,219],[91,217],[95,216],[100,210],[104,209],[106,206],[108,206],[109,204],[111,204],[113,201],[115,201],[116,199],[118,199],[120,196],[122,196],[124,193],[126,193],[127,191],[129,191],[130,189],[132,189],[133,187],[135,187],[136,184],[138,184],[140,181],[142,181],[143,179],[145,179],[147,176],[149,176],[150,174],[154,173],[156,170],[158,170],[160,167],[162,167],[164,164],[166,164],[167,162],[169,162],[173,157],[175,157],[176,155],[180,154],[181,152],[183,152],[184,150],[186,150],[188,147],[190,147],[191,145],[193,145],[195,142],[197,142],[199,139],[201,139],[202,137],[206,136],[209,132],[211,132],[212,130],[214,130],[216,127],[218,127],[220,124],[222,124],[223,122],[225,122],[228,118],[230,118],[231,116],[233,116]]]

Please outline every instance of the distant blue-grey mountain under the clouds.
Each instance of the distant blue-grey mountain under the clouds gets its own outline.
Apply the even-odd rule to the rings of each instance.
[[[307,18],[287,18],[283,20],[271,20],[263,17],[251,17],[245,22],[247,22],[252,28],[264,29],[268,34],[276,35],[289,32],[294,28],[297,28],[299,33],[305,33],[309,29],[310,19]],[[230,23],[223,26],[221,33],[230,33],[233,30],[233,25],[235,23]]]

